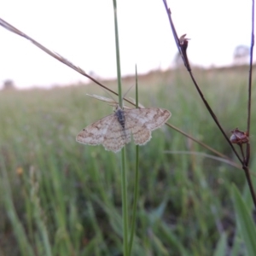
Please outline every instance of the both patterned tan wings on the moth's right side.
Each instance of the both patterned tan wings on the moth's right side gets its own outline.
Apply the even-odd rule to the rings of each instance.
[[[134,143],[144,145],[151,139],[151,131],[164,125],[171,115],[162,108],[133,108],[125,111],[125,128],[131,129]]]

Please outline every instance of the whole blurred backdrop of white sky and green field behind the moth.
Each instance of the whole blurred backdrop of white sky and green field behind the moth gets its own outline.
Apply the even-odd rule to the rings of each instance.
[[[250,3],[169,6],[224,131],[245,131]],[[111,1],[9,1],[0,17],[117,90]],[[137,64],[139,102],[169,109],[170,124],[236,162],[177,55],[163,3],[119,1],[118,17],[123,91]],[[86,94],[108,94],[24,38],[0,33],[0,255],[122,255],[119,154],[75,141],[113,113]],[[131,217],[135,146],[125,148]],[[165,125],[140,147],[139,170],[132,255],[247,255],[231,197],[235,183],[252,208],[241,169]]]

